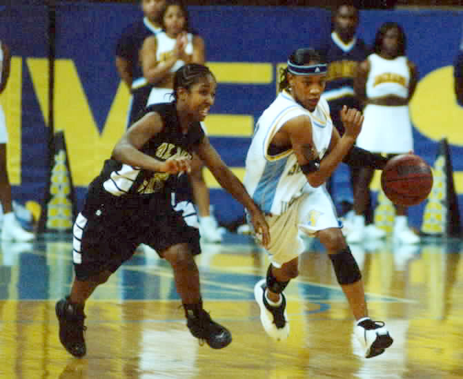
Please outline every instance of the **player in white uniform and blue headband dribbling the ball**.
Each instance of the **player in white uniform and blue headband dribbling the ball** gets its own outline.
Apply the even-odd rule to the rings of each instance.
[[[386,159],[353,148],[363,122],[355,108],[342,109],[345,133],[339,136],[326,100],[320,100],[325,83],[326,64],[319,54],[311,48],[295,50],[282,72],[282,92],[257,122],[244,185],[266,213],[271,264],[254,292],[265,331],[283,340],[289,333],[283,291],[297,277],[298,257],[304,251],[299,233],[318,237],[357,320],[357,338],[370,358],[383,353],[393,340],[383,322],[368,317],[362,274],[322,184],[342,161],[380,169]]]

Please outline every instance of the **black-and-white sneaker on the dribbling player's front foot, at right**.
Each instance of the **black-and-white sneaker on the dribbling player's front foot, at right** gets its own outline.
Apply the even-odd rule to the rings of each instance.
[[[372,358],[384,353],[391,346],[393,339],[382,321],[373,321],[370,318],[357,322],[354,329],[355,336],[365,349],[365,358]]]

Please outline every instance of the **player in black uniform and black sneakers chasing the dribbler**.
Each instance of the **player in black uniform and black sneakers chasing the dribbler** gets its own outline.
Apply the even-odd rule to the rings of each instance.
[[[75,280],[70,295],[56,304],[59,338],[73,356],[86,353],[86,300],[140,243],[151,246],[173,267],[177,293],[193,336],[214,349],[231,342],[230,332],[213,322],[203,309],[193,259],[201,252],[199,231],[171,205],[177,177],[190,171],[195,152],[221,186],[246,207],[264,244],[270,240],[263,213],[199,124],[214,103],[216,86],[206,66],[187,64],[179,68],[174,78],[175,100],[146,108],[146,114],[121,137],[100,175],[90,184],[73,229]]]

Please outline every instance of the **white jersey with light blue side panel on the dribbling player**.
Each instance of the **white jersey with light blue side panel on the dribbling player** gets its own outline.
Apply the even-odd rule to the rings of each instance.
[[[270,155],[268,148],[277,131],[290,119],[308,115],[312,122],[315,150],[322,159],[331,141],[333,122],[326,100],[321,99],[313,112],[298,104],[283,91],[264,110],[257,121],[246,156],[244,186],[265,213],[279,215],[311,187],[302,173],[292,149]],[[305,187],[305,188],[304,188]]]

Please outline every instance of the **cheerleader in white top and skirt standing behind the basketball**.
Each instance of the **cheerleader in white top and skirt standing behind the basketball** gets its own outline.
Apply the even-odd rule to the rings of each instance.
[[[408,102],[415,92],[418,74],[405,55],[405,35],[393,22],[384,23],[375,38],[374,53],[359,65],[354,86],[365,104],[364,125],[357,146],[388,155],[413,150],[413,134]],[[364,233],[363,212],[369,202],[373,179],[371,168],[362,168],[354,188],[354,227],[347,242],[359,242]],[[393,236],[408,244],[420,242],[408,228],[406,207],[396,206]]]

